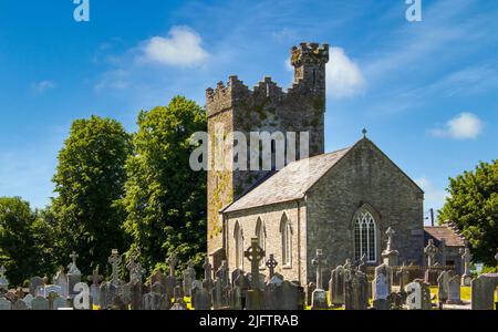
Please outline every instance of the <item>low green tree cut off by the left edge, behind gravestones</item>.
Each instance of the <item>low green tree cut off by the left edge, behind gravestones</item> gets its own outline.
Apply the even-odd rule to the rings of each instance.
[[[37,252],[31,227],[34,214],[20,197],[0,197],[0,266],[8,270],[10,286],[20,286],[37,272]]]

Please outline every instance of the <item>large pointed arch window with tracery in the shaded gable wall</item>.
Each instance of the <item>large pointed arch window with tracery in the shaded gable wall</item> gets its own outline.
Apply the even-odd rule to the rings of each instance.
[[[354,259],[363,255],[369,262],[377,261],[376,224],[370,211],[361,209],[354,220]]]

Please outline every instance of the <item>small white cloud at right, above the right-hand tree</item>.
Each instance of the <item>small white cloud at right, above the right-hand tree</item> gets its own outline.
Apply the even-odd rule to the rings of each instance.
[[[476,138],[483,132],[483,121],[473,113],[461,113],[446,123],[443,128],[433,129],[433,135],[456,139]]]

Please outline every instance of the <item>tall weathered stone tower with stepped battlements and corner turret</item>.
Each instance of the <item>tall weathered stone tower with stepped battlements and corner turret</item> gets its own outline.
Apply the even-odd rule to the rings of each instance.
[[[302,43],[291,50],[294,66],[292,87],[283,92],[270,77],[264,77],[249,90],[237,76],[230,76],[227,85],[206,91],[208,133],[212,138],[215,126],[222,124],[225,133],[250,132],[308,132],[310,155],[324,152],[325,64],[329,45]],[[299,135],[297,137],[299,142]],[[214,141],[211,139],[211,143]],[[214,156],[214,144],[209,147]],[[249,151],[249,148],[248,148]],[[299,151],[299,147],[298,147]],[[228,154],[227,151],[225,151]],[[297,158],[299,159],[299,154]],[[214,163],[210,158],[210,163]],[[212,166],[214,164],[211,164]],[[224,222],[219,210],[261,180],[268,170],[217,172],[208,170],[208,253],[215,255],[215,267],[222,259]]]

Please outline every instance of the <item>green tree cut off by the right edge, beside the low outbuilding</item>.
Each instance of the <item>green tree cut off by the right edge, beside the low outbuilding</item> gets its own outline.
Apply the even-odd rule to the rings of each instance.
[[[450,196],[438,219],[452,220],[468,239],[475,261],[496,267],[498,248],[498,160],[449,179]]]

